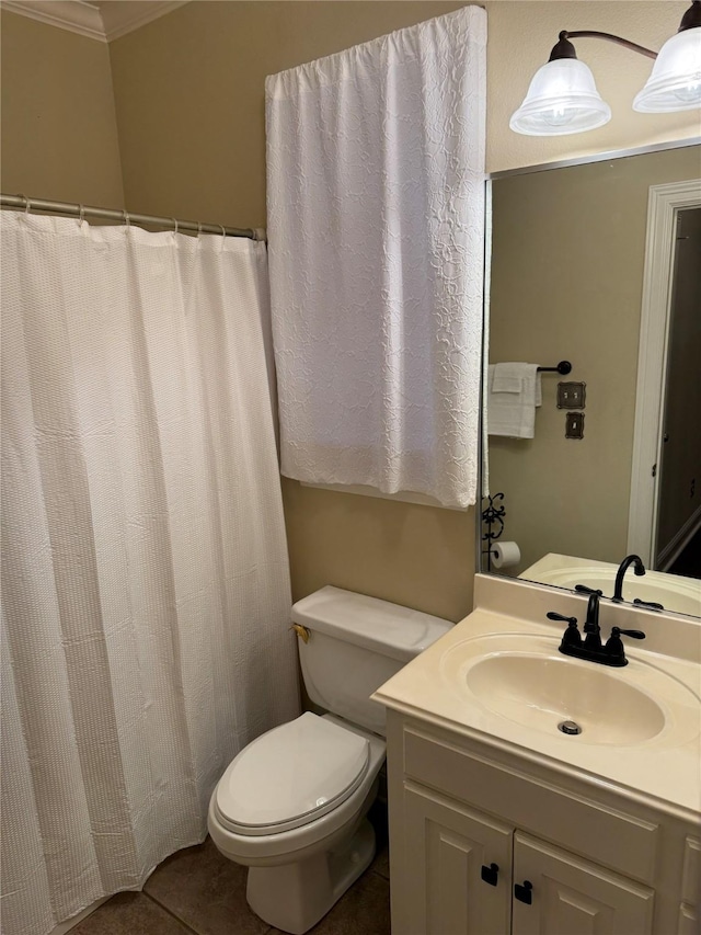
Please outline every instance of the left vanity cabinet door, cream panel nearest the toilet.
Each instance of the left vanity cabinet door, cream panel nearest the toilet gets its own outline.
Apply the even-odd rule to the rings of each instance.
[[[402,920],[393,920],[393,935],[508,935],[513,834],[496,819],[405,784]]]

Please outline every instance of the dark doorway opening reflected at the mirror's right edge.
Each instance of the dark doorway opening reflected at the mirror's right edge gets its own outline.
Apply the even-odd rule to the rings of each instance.
[[[677,214],[667,346],[654,567],[689,574],[701,562],[701,543],[676,552],[701,511],[701,208]]]

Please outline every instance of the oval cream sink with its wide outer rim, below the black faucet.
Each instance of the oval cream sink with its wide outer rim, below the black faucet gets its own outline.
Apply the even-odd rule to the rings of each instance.
[[[686,742],[699,733],[699,699],[674,676],[639,660],[614,670],[572,659],[559,642],[522,634],[463,640],[444,654],[441,677],[487,712],[563,743]]]

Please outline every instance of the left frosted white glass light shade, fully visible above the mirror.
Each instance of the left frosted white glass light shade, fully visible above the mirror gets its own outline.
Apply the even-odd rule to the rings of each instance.
[[[577,58],[558,58],[539,68],[509,127],[527,136],[584,133],[611,119],[589,68]]]

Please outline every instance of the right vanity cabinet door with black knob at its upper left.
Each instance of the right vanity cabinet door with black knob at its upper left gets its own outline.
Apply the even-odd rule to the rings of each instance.
[[[514,883],[532,885],[531,902],[515,890],[513,935],[650,935],[648,887],[517,832]],[[527,888],[528,890],[528,888]]]

